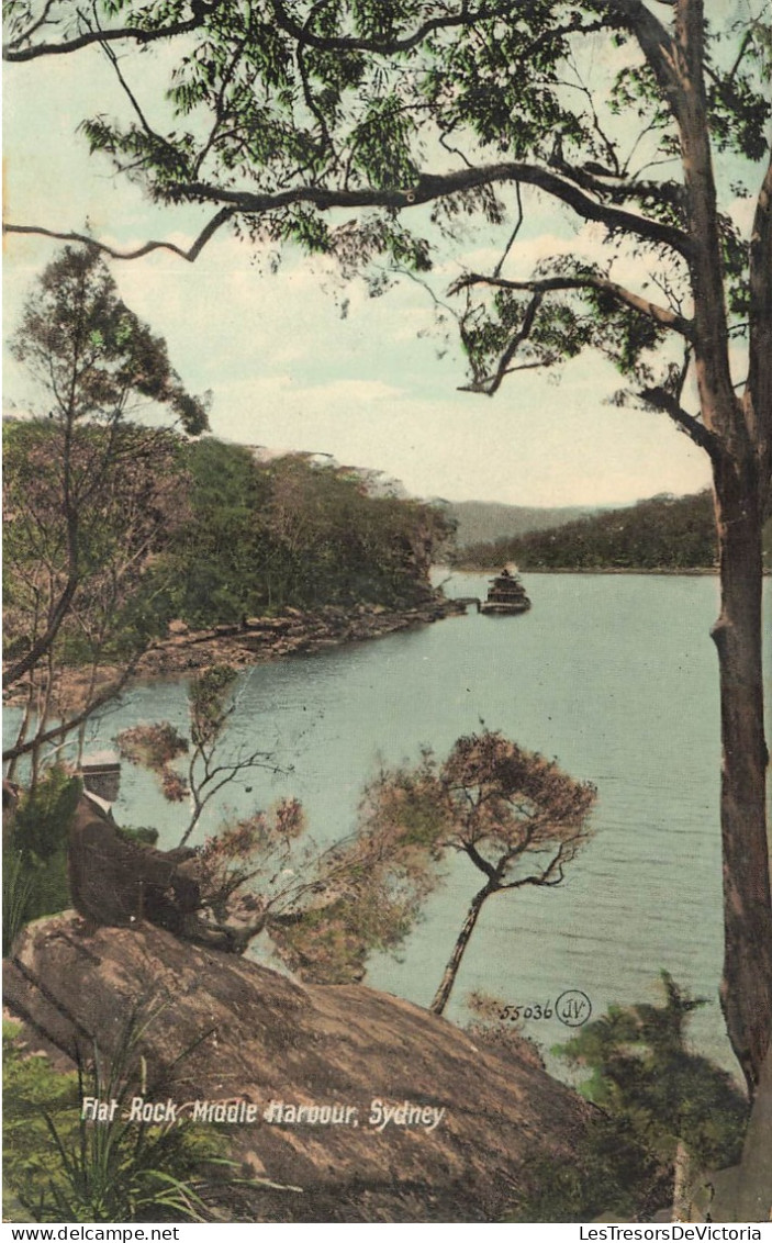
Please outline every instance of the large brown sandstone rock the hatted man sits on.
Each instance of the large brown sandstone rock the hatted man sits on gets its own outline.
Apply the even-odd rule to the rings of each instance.
[[[147,924],[91,932],[66,912],[31,925],[5,963],[5,1002],[32,1047],[70,1059],[94,1043],[108,1055],[139,1004],[154,1014],[140,1045],[148,1100],[256,1106],[229,1127],[234,1156],[302,1191],[241,1197],[231,1219],[497,1221],[528,1165],[568,1160],[587,1121],[532,1060],[408,1002],[300,984]],[[398,1117],[405,1103],[420,1119],[443,1112],[433,1127],[379,1129],[374,1101],[403,1106]],[[267,1120],[280,1104],[342,1106],[348,1121]]]

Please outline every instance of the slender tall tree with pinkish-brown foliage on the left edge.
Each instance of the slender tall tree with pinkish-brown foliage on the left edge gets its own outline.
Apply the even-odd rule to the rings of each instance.
[[[4,687],[26,690],[4,761],[31,753],[35,768],[124,685],[152,633],[147,569],[184,517],[179,440],[126,416],[158,403],[195,435],[206,411],[93,247],[46,267],[12,348],[48,405],[47,419],[11,424],[5,455]],[[77,706],[60,694],[63,661],[81,667]]]

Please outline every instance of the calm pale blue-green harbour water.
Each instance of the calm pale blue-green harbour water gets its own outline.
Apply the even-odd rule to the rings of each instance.
[[[449,594],[484,595],[457,574]],[[709,998],[695,1044],[733,1065],[717,1006],[721,972],[719,691],[709,629],[711,577],[531,576],[532,610],[467,617],[378,641],[259,665],[242,675],[230,743],[272,750],[291,772],[259,771],[201,823],[285,794],[305,804],[318,840],[351,832],[362,788],[380,763],[444,756],[484,721],[556,757],[598,787],[595,834],[557,889],[489,900],[464,958],[450,1018],[482,991],[503,1002],[554,1002],[581,989],[609,1002],[653,999],[660,970]],[[9,713],[10,716],[10,713]],[[139,720],[185,728],[185,684],[136,687],[99,723],[108,746]],[[10,721],[9,721],[10,726]],[[251,787],[247,792],[246,787]],[[184,809],[164,804],[148,774],[128,771],[119,822],[180,835]],[[372,962],[367,982],[428,1004],[480,874],[459,861],[400,952]],[[525,1027],[545,1049],[569,1030],[556,1017]]]

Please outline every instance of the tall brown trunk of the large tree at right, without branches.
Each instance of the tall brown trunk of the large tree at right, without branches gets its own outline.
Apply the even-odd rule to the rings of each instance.
[[[760,436],[760,411],[753,400],[737,400],[730,368],[724,259],[705,91],[704,0],[675,0],[674,16],[670,103],[681,142],[691,239],[692,346],[702,423],[712,444],[721,566],[721,614],[712,630],[721,685],[725,937],[721,1004],[732,1048],[752,1095],[772,1034],[772,905],[766,825],[768,757],[761,674],[765,445]],[[761,227],[758,216],[756,227]],[[762,245],[761,249],[766,252],[768,247]],[[756,255],[753,270],[758,259]],[[761,278],[768,281],[768,272]],[[752,282],[752,321],[760,310],[768,307],[763,298],[760,300],[756,285]],[[752,327],[751,362],[753,383],[758,385],[758,324]],[[768,418],[766,411],[762,418]]]

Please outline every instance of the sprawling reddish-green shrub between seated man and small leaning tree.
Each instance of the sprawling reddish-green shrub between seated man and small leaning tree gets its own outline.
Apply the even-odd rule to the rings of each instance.
[[[229,752],[235,679],[226,665],[193,679],[190,740],[168,721],[137,725],[117,737],[121,756],[154,772],[168,802],[190,799],[179,845],[167,856],[184,854],[185,876],[196,891],[194,909],[177,921],[177,931],[240,953],[266,933],[278,957],[302,978],[358,981],[373,950],[393,950],[404,940],[430,888],[421,884],[425,865],[405,858],[404,849],[392,849],[383,833],[359,827],[349,838],[321,848],[307,832],[301,804],[287,798],[270,812],[259,809],[220,823],[190,850],[193,858],[182,849],[219,791],[254,768],[276,771],[265,751]],[[132,864],[129,856],[128,863],[136,871],[136,860]]]

